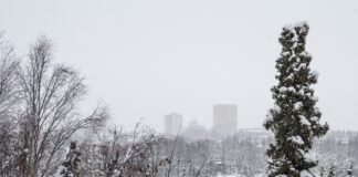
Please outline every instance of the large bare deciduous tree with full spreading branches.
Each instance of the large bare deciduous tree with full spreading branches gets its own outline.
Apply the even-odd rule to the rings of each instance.
[[[52,64],[52,53],[51,41],[40,37],[30,49],[29,61],[18,70],[23,100],[21,176],[46,176],[54,155],[76,131],[99,126],[107,117],[103,106],[86,117],[76,112],[87,93],[84,79],[71,66]]]

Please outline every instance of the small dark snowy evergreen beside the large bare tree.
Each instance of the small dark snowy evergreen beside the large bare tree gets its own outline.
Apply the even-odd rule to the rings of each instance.
[[[70,152],[66,155],[65,162],[62,163],[63,169],[61,175],[63,177],[77,177],[80,175],[80,156],[81,152],[78,150],[76,143],[71,142]]]

